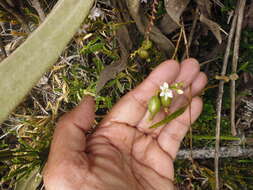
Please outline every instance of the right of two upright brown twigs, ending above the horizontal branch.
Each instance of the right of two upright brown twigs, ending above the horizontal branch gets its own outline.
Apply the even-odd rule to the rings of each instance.
[[[237,72],[237,63],[239,57],[240,38],[242,30],[242,21],[244,16],[246,0],[241,0],[238,10],[238,20],[236,26],[233,61],[232,61],[232,74]],[[231,109],[230,109],[230,122],[231,122],[231,133],[233,136],[237,134],[235,125],[235,80],[230,82],[230,97],[231,97]]]

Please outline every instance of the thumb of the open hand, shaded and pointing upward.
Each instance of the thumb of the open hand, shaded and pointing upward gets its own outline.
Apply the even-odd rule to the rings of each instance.
[[[63,158],[70,152],[84,151],[85,132],[94,121],[94,112],[94,99],[86,96],[76,108],[66,113],[57,123],[49,157]]]

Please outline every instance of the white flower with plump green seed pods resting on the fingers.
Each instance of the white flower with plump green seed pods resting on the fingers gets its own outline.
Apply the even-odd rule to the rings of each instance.
[[[181,95],[184,93],[182,88],[183,83],[181,82],[173,85],[169,85],[167,82],[164,82],[163,85],[160,86],[160,90],[158,90],[156,95],[152,96],[149,100],[148,110],[150,113],[150,120],[152,120],[161,109],[168,110],[174,97],[173,92]]]

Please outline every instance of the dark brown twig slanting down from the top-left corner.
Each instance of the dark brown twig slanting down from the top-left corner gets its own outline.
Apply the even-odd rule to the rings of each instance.
[[[24,30],[27,33],[30,33],[30,28],[28,27],[24,17],[18,11],[16,11],[4,0],[0,0],[0,6],[3,7],[6,11],[8,11],[10,14],[12,14],[18,20],[18,22],[23,26]]]

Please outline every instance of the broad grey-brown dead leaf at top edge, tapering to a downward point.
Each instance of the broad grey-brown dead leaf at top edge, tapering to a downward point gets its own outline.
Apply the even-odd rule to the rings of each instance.
[[[180,17],[190,0],[164,0],[164,6],[172,20],[180,26]]]

